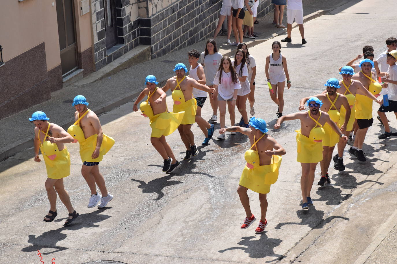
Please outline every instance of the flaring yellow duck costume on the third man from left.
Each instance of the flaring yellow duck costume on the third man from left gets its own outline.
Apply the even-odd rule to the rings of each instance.
[[[149,98],[156,92],[156,89],[149,95],[146,102],[142,102],[139,106],[142,115],[150,119],[150,127],[152,127],[152,134],[150,137],[162,137],[172,134],[181,124],[185,112],[163,112],[160,114],[153,114],[152,107],[148,103]]]

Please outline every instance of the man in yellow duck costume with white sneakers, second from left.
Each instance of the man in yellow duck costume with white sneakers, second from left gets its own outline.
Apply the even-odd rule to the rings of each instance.
[[[99,118],[87,108],[88,104],[83,95],[77,95],[73,99],[75,123],[67,131],[80,144],[80,157],[83,162],[81,174],[91,190],[87,207],[95,207],[100,201],[98,208],[103,208],[113,199],[113,195],[106,188],[105,179],[99,171],[99,162],[112,148],[114,139],[102,133]],[[96,185],[101,194],[96,192]]]

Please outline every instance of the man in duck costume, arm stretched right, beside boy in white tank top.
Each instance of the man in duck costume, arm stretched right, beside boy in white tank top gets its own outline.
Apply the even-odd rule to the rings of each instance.
[[[198,150],[195,144],[195,137],[191,131],[191,127],[195,122],[197,103],[193,98],[193,87],[214,92],[214,88],[210,88],[204,84],[198,83],[195,79],[186,77],[187,68],[183,63],[175,65],[173,70],[176,76],[168,79],[166,85],[161,89],[166,93],[169,89],[172,91],[172,98],[174,99],[173,111],[180,112],[185,111],[181,125],[178,127],[179,134],[183,144],[186,147],[186,156],[184,160],[190,160],[192,156],[197,156]],[[182,91],[179,95],[177,91]],[[195,109],[196,108],[196,109]]]

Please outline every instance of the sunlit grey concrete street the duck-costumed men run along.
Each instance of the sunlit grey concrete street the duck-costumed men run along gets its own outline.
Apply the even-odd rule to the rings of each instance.
[[[291,44],[281,43],[291,78],[291,89],[285,87],[284,91],[284,115],[297,112],[302,97],[324,91],[328,78],[340,80],[338,68],[362,53],[363,46],[372,45],[376,58],[386,49],[385,39],[395,36],[393,0],[385,0],[382,8],[377,1],[353,2],[356,4],[304,23],[307,44],[300,44],[298,28],[292,30]],[[394,7],[385,8],[387,4]],[[258,219],[249,228],[240,229],[245,212],[236,190],[245,165],[244,153],[250,147],[245,135],[227,133],[225,140],[217,141],[217,123],[210,144],[201,146],[204,135],[193,125],[199,154],[181,161],[181,169],[168,175],[161,171],[162,158],[150,143],[148,118],[140,111],[133,112],[130,102],[99,117],[103,132],[116,140],[99,164],[108,191],[114,195],[108,207],[87,208],[90,191],[80,172],[79,146],[66,145],[72,165],[65,187],[80,213],[70,226],[62,225],[67,210],[59,199],[56,220],[42,221],[49,208],[45,165],[33,160],[33,148],[0,162],[1,262],[40,263],[38,250],[46,263],[54,258],[56,263],[76,264],[95,260],[354,263],[362,257],[385,226],[397,223],[397,141],[393,137],[377,139],[383,127],[376,120],[378,104],[374,103],[375,120],[363,148],[367,161],[359,162],[347,152],[347,146],[343,156],[346,170],[333,169],[331,161],[331,184],[326,187],[317,185],[318,165],[311,192],[314,205],[301,210],[301,165],[296,161],[295,141],[300,124],[286,121],[281,129],[273,128],[277,105],[270,99],[264,74],[272,42],[284,37],[249,48],[257,65],[255,116],[266,120],[268,134],[287,151],[278,181],[267,196],[269,224],[264,233],[254,232],[260,207],[258,195],[250,190],[251,210]],[[187,57],[181,62],[187,64]],[[137,82],[143,84],[145,77]],[[167,94],[171,110],[173,102]],[[90,102],[89,95],[85,96]],[[208,120],[211,114],[207,100],[202,116]],[[397,121],[393,114],[387,116],[394,132]],[[237,122],[239,117],[236,109]],[[228,114],[226,125],[230,125]],[[175,131],[166,140],[175,157],[182,160],[185,147],[179,133]],[[390,263],[395,263],[395,249],[389,256],[389,261],[392,259]]]

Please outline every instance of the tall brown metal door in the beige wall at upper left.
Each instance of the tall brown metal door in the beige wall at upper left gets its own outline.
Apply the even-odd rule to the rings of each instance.
[[[73,0],[56,0],[62,76],[77,69],[76,32]]]

